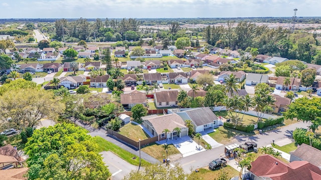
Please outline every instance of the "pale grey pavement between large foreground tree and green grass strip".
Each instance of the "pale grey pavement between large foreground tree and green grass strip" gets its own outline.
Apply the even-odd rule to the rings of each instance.
[[[116,154],[112,153],[111,151],[102,151],[100,152],[103,157],[103,161],[106,165],[108,165],[108,169],[112,174],[112,179],[120,180],[126,174],[129,174],[131,170],[138,169],[138,166],[132,165],[122,158],[118,157]],[[141,167],[140,167],[141,168]]]

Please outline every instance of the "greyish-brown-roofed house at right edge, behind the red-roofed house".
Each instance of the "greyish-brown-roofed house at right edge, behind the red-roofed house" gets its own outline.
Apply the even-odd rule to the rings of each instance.
[[[302,143],[298,145],[297,149],[290,152],[290,162],[295,160],[305,160],[321,168],[321,150]]]

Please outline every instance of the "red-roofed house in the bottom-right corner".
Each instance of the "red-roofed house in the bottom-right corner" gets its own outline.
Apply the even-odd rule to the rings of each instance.
[[[252,162],[246,177],[250,180],[318,180],[321,179],[321,169],[308,161],[285,163],[269,154],[264,154]]]

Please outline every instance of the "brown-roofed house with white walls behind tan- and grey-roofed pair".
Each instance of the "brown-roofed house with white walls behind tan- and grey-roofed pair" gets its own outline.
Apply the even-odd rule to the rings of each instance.
[[[163,90],[154,94],[154,102],[156,107],[172,107],[178,106],[177,96],[178,90]]]

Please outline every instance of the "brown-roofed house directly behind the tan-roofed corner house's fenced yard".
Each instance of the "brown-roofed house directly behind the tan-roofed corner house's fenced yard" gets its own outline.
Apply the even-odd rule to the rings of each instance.
[[[136,104],[146,106],[146,93],[134,90],[129,93],[120,94],[120,103],[126,109],[131,109]]]

